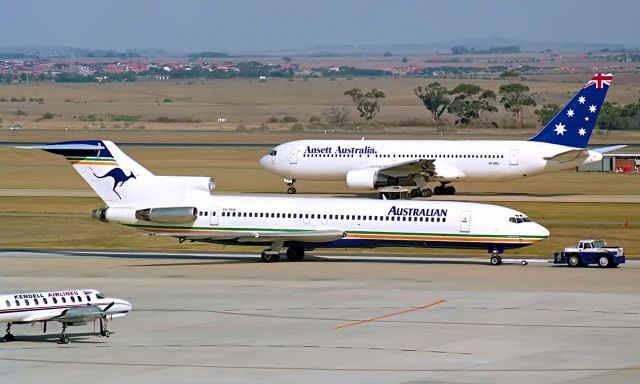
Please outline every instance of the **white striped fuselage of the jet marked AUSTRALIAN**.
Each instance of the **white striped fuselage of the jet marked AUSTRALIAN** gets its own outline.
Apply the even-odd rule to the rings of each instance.
[[[149,205],[154,206],[152,201]],[[307,249],[417,246],[502,250],[530,245],[549,235],[535,222],[513,220],[526,217],[518,211],[468,202],[200,195],[175,200],[172,205],[197,208],[196,220],[176,225],[136,219],[135,211],[144,207],[110,207],[105,218],[151,233],[184,234],[200,241],[210,237],[211,242],[225,244],[247,244],[233,240],[238,233],[249,237],[311,230],[344,233],[343,238],[326,243],[285,241],[285,246]],[[234,234],[229,241],[226,233]]]

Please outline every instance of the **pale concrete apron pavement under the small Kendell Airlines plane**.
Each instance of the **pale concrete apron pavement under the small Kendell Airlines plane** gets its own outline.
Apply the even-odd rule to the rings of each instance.
[[[623,383],[640,380],[639,263],[1,251],[3,291],[97,288],[91,325],[15,325],[11,383]]]

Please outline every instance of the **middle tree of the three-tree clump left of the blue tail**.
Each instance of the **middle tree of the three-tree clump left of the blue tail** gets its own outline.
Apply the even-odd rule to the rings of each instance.
[[[496,99],[496,94],[489,89],[482,89],[475,84],[462,83],[451,92],[453,101],[447,111],[458,117],[455,124],[468,125],[479,119],[483,112],[497,112],[498,108],[490,101]]]

